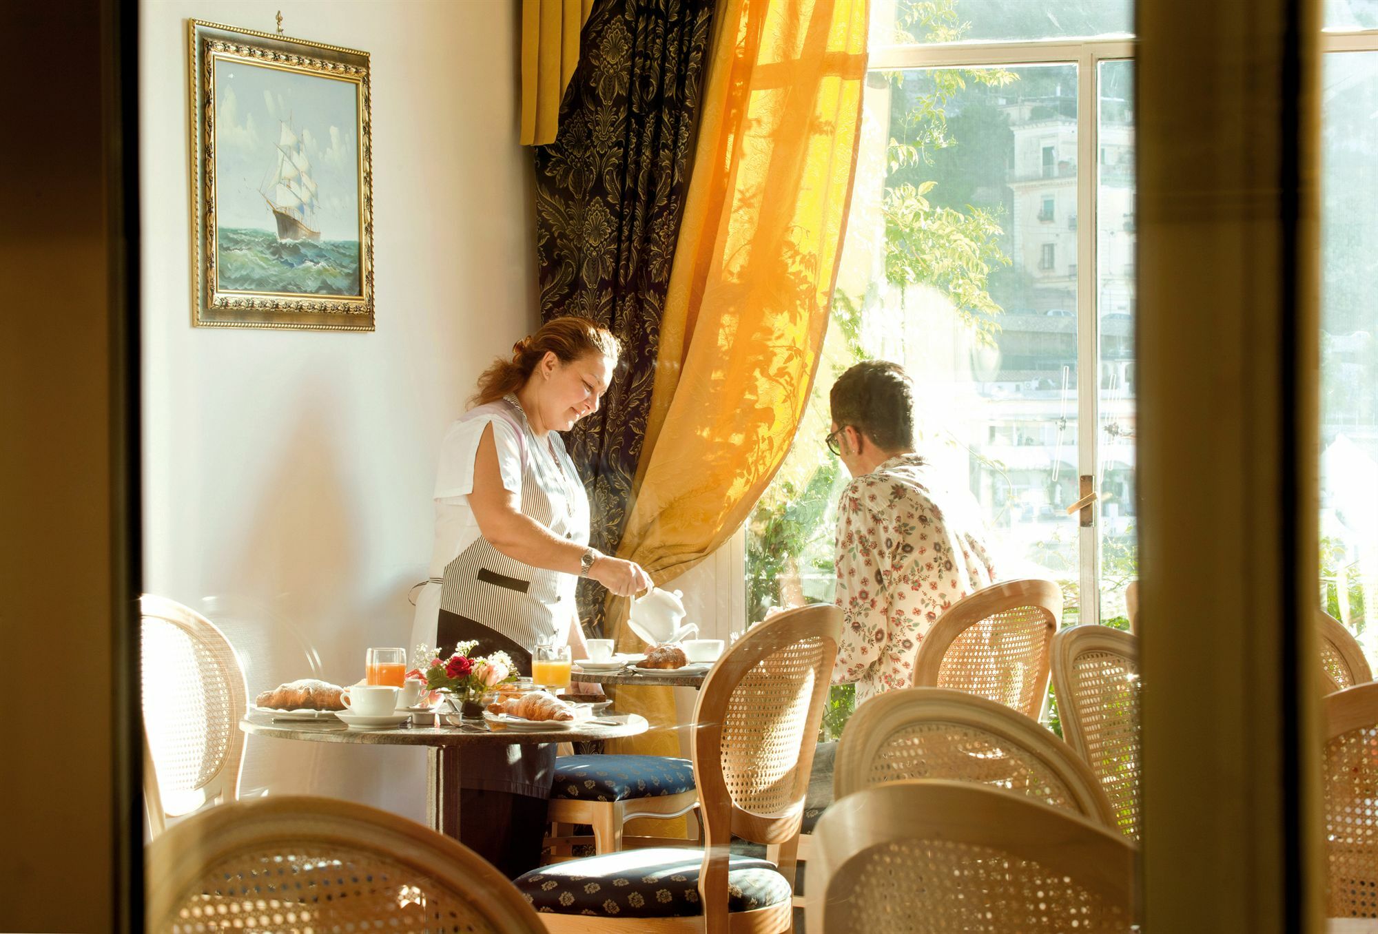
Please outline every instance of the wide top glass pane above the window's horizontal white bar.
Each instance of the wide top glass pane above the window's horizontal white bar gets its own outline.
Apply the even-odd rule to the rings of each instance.
[[[872,45],[1090,39],[1133,32],[1133,0],[874,0],[871,4]]]

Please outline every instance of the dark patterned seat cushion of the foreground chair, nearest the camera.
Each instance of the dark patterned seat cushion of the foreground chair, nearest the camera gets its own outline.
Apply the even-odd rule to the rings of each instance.
[[[685,917],[701,915],[699,865],[703,850],[648,847],[569,860],[515,880],[539,912],[604,917]],[[773,864],[732,857],[728,909],[766,908],[790,900],[790,883]]]

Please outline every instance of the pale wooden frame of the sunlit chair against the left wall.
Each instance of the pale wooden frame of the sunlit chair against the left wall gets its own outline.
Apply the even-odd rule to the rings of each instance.
[[[164,596],[145,594],[139,598],[139,613],[143,620],[156,619],[169,623],[193,641],[201,643],[220,667],[220,676],[229,687],[229,707],[237,711],[238,716],[248,712],[248,687],[244,682],[244,670],[240,668],[234,647],[225,634],[208,619],[175,601]],[[142,635],[141,635],[142,638]],[[143,672],[143,693],[150,694],[149,676],[154,672]],[[234,719],[237,720],[238,716]],[[168,793],[158,785],[157,763],[153,760],[152,749],[147,747],[147,726],[145,725],[145,770],[143,795],[145,813],[147,816],[149,832],[157,836],[167,828],[169,817],[181,817],[215,803],[232,802],[240,795],[240,773],[244,769],[244,733],[232,729],[227,745],[219,767],[200,787]],[[152,763],[153,767],[147,767]]]

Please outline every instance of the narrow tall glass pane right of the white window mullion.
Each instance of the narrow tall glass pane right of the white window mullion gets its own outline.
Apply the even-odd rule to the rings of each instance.
[[[1097,492],[1101,623],[1129,628],[1138,577],[1134,503],[1134,62],[1100,65],[1096,309],[1100,325]]]

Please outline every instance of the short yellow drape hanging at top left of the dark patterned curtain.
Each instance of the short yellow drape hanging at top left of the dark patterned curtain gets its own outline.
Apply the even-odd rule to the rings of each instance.
[[[555,142],[559,99],[579,63],[579,30],[594,0],[522,0],[521,143]]]

